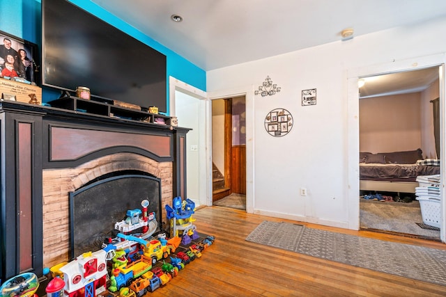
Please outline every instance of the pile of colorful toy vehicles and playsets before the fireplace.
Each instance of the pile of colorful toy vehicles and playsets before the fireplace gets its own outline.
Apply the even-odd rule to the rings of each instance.
[[[141,205],[144,208],[146,202]],[[45,288],[47,296],[137,297],[164,286],[187,264],[200,258],[215,240],[214,236],[197,232],[192,224],[194,207],[192,200],[182,201],[180,197],[174,198],[173,207],[166,205],[170,238],[165,233],[148,236],[150,221],[145,215],[140,219],[140,211],[128,211],[128,218],[116,223],[116,229],[131,230],[132,224],[143,225],[148,227],[144,233],[118,233],[116,238],[102,243],[100,250],[45,268],[44,274],[51,279]],[[153,219],[154,214],[148,217]],[[0,287],[0,297],[37,297],[38,285],[34,273],[17,275]]]

